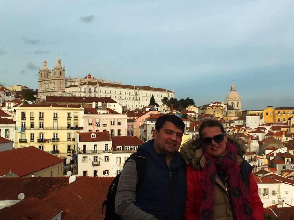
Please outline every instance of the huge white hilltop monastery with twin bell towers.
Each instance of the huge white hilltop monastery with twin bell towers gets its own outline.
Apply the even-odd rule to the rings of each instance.
[[[151,96],[156,103],[162,104],[164,97],[174,97],[174,92],[168,89],[154,88],[148,86],[124,85],[122,82],[106,82],[103,79],[96,79],[91,75],[83,79],[65,77],[65,69],[61,66],[58,57],[56,66],[52,71],[47,67],[44,60],[43,67],[39,70],[39,93],[41,99],[46,96],[81,96],[81,97],[111,97],[122,106],[129,109],[148,106]]]

